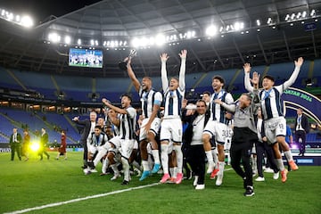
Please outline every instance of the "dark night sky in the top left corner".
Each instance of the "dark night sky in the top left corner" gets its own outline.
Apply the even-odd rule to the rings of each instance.
[[[26,12],[33,17],[37,24],[40,21],[45,21],[50,15],[59,17],[99,1],[100,0],[0,0],[0,8],[16,14]]]

